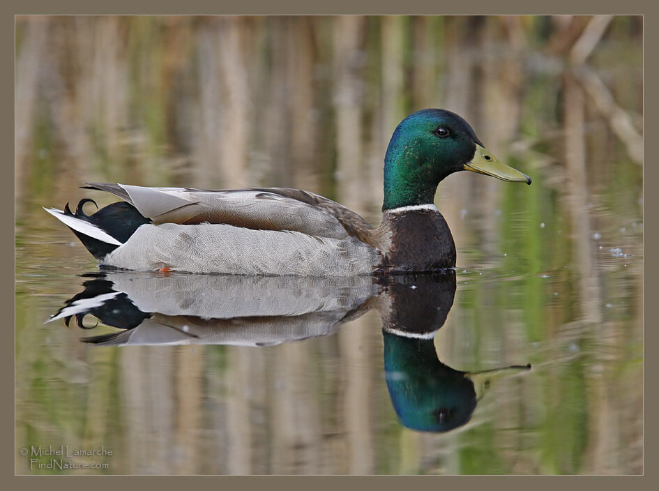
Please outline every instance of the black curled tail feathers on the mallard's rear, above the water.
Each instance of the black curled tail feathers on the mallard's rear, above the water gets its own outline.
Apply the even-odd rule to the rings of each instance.
[[[144,218],[144,216],[137,211],[135,206],[132,206],[130,203],[123,201],[112,203],[96,211],[96,213],[93,213],[92,215],[86,215],[82,210],[85,203],[93,203],[96,208],[98,208],[98,204],[96,204],[93,199],[84,198],[78,202],[78,206],[75,208],[75,213],[71,211],[69,204],[67,203],[66,206],[64,206],[64,214],[73,216],[79,220],[84,220],[92,225],[96,225],[96,227],[107,232],[107,234],[111,235],[121,243],[128,241],[128,238],[138,227],[146,223],[151,223],[149,218]],[[89,235],[81,234],[75,229],[71,230],[73,230],[75,236],[80,239],[82,245],[85,246],[87,250],[91,252],[93,257],[96,257],[99,261],[103,261],[105,255],[119,247],[116,244],[99,241]]]

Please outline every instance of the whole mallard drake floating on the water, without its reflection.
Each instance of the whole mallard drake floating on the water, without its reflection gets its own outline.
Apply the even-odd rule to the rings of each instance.
[[[87,183],[124,201],[91,216],[45,209],[102,264],[137,271],[243,275],[360,275],[455,266],[455,243],[433,204],[439,182],[468,170],[503,181],[531,178],[499,162],[469,123],[423,109],[395,129],[384,159],[382,220],[289,188],[203,190]],[[96,203],[94,203],[96,204]]]

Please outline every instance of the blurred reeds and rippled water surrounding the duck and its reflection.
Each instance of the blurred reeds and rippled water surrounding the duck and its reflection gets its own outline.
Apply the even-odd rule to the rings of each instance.
[[[127,474],[641,472],[642,41],[635,16],[17,17],[17,441],[109,442]],[[287,186],[376,225],[388,139],[424,107],[533,177],[436,198],[465,268],[440,359],[537,367],[468,429],[395,424],[377,317],[263,350],[41,326],[96,263],[40,206],[114,200],[85,181]]]

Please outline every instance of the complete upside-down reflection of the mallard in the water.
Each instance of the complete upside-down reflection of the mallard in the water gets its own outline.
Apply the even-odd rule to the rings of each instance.
[[[97,345],[272,346],[331,335],[375,309],[382,319],[391,402],[407,428],[446,432],[464,425],[490,378],[531,368],[462,372],[441,363],[434,335],[455,296],[455,271],[381,278],[86,275],[84,290],[49,319],[93,315],[121,331],[82,340]],[[97,324],[98,325],[98,324]],[[482,394],[481,394],[482,395]]]

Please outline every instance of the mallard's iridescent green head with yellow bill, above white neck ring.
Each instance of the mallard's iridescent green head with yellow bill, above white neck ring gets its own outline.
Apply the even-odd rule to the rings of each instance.
[[[431,204],[439,181],[460,170],[531,184],[529,176],[494,158],[454,112],[410,114],[393,132],[384,158],[383,211]]]

